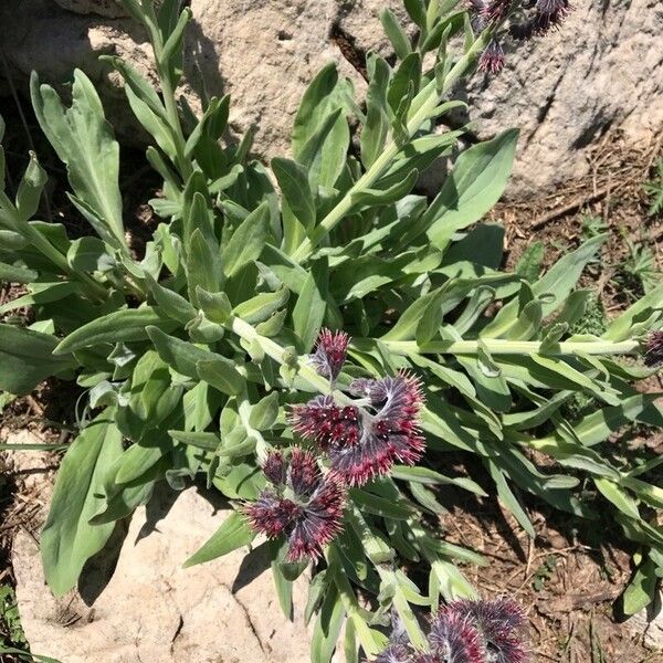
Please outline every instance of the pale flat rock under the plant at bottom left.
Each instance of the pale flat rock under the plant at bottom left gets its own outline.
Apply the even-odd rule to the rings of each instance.
[[[278,607],[264,547],[183,569],[229,509],[215,509],[196,488],[152,502],[118,541],[107,586],[108,551],[62,600],[45,587],[34,538],[17,536],[17,599],[31,650],[66,663],[308,663],[306,580],[295,583],[291,622]]]

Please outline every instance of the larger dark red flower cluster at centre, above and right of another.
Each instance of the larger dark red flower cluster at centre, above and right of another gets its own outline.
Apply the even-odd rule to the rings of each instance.
[[[424,450],[417,378],[403,372],[355,380],[350,390],[364,397],[366,407],[340,408],[332,396],[320,396],[293,409],[293,430],[316,442],[329,455],[332,472],[351,486],[387,474],[396,462],[415,463]]]

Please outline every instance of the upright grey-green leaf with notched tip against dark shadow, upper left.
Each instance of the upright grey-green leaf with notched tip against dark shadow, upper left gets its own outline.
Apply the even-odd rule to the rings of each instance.
[[[66,165],[76,199],[103,222],[106,231],[102,239],[124,248],[119,147],[94,85],[76,70],[72,106],[66,109],[51,86],[39,84],[36,74],[31,77],[30,91],[36,119],[60,160]]]

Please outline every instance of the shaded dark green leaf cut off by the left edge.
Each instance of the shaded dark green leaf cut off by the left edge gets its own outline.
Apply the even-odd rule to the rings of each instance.
[[[56,345],[50,334],[0,323],[0,390],[23,396],[52,375],[77,366],[72,358],[54,357]]]

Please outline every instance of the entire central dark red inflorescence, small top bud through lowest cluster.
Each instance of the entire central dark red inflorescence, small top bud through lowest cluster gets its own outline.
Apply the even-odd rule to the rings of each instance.
[[[333,388],[348,343],[344,332],[323,329],[309,357]],[[256,532],[287,539],[291,561],[319,557],[340,532],[347,487],[385,476],[396,463],[412,465],[424,451],[419,432],[423,396],[415,377],[400,372],[362,378],[350,385],[349,392],[357,397],[350,404],[337,403],[330,393],[292,409],[293,431],[312,449],[294,448],[290,461],[271,452],[263,464],[271,486],[244,507]]]

